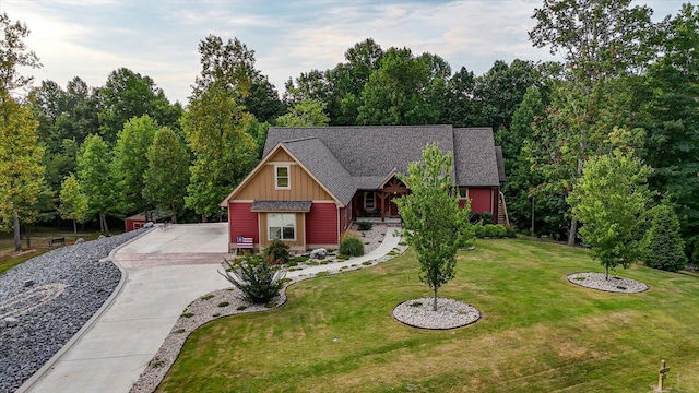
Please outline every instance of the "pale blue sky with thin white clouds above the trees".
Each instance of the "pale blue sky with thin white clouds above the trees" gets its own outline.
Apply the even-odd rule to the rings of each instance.
[[[684,1],[686,2],[686,0]],[[633,1],[654,19],[683,0]],[[0,0],[0,12],[32,31],[26,44],[43,68],[22,70],[37,83],[66,86],[80,76],[103,86],[126,67],[147,75],[171,100],[187,104],[201,71],[197,47],[208,35],[237,37],[254,50],[256,69],[280,92],[289,78],[344,61],[366,38],[383,49],[445,58],[476,75],[496,60],[561,60],[534,48],[528,32],[542,0]]]

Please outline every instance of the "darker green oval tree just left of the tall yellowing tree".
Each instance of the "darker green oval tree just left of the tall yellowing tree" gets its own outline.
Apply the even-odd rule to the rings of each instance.
[[[177,212],[185,205],[189,182],[189,153],[170,129],[164,127],[155,133],[147,153],[147,169],[143,174],[143,199],[158,210]]]

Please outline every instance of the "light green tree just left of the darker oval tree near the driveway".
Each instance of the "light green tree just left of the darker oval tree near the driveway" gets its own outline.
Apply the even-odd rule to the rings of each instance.
[[[127,121],[119,131],[114,150],[112,178],[117,182],[117,210],[122,214],[143,212],[149,207],[141,195],[143,174],[149,168],[146,154],[158,129],[154,119],[143,115]]]

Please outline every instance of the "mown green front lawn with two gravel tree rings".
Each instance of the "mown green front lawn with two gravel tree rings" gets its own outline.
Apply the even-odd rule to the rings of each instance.
[[[310,279],[261,313],[193,332],[159,392],[648,392],[662,359],[673,392],[699,391],[699,277],[642,266],[616,274],[637,295],[571,285],[602,272],[587,250],[479,240],[439,295],[477,307],[457,330],[412,329],[398,303],[430,290],[408,251],[372,269]]]

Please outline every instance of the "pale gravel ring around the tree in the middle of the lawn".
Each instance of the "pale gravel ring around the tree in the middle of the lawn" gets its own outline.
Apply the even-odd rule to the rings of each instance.
[[[437,298],[437,311],[433,310],[435,298],[403,301],[393,309],[393,318],[413,327],[443,330],[465,326],[481,319],[481,311],[463,301]]]

